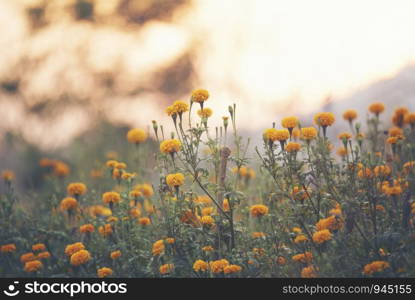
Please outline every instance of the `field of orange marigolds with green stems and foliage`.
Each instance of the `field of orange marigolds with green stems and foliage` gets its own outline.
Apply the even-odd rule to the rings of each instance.
[[[288,116],[254,145],[244,108],[211,124],[210,101],[171,103],[173,132],[154,120],[74,161],[33,158],[37,188],[2,170],[0,276],[415,276],[415,113]]]

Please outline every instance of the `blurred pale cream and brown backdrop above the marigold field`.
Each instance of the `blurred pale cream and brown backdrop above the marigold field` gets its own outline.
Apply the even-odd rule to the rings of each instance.
[[[210,91],[212,124],[237,103],[252,135],[284,115],[414,109],[414,12],[413,0],[0,0],[0,169],[167,125],[165,107],[195,88]]]

